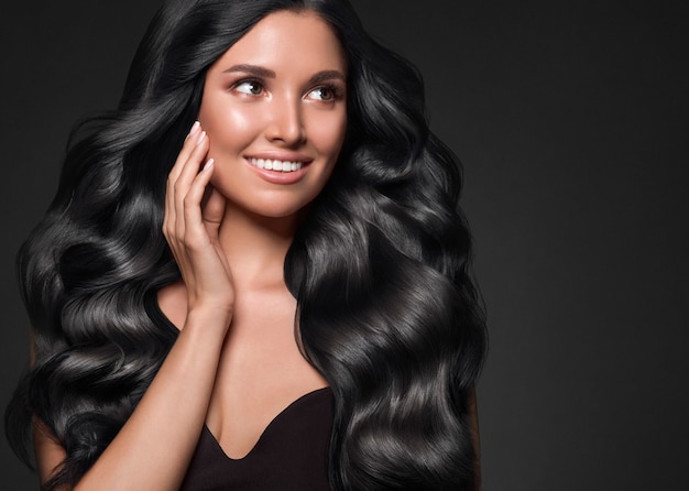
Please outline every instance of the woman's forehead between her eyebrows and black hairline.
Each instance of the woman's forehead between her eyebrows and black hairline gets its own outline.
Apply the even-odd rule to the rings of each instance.
[[[211,70],[250,63],[271,69],[340,70],[347,59],[332,28],[313,11],[278,11],[259,21]]]

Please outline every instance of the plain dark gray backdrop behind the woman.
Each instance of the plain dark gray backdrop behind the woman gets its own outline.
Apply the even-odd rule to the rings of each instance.
[[[425,74],[433,128],[464,162],[491,335],[484,489],[683,489],[687,8],[354,3]],[[2,406],[28,346],[13,255],[54,193],[69,127],[116,105],[156,4],[0,7]],[[0,489],[35,487],[4,440],[0,467]]]

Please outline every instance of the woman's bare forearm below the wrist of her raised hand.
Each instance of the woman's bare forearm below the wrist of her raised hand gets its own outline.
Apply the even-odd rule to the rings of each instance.
[[[179,488],[206,418],[229,324],[215,317],[189,313],[136,410],[76,491]]]

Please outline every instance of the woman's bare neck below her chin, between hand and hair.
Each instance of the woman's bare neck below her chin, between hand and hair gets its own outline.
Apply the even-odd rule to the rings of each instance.
[[[219,240],[236,288],[255,290],[284,284],[284,263],[298,217],[267,218],[228,206]]]

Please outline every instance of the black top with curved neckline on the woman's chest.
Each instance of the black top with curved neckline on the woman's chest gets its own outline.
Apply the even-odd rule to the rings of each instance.
[[[309,392],[267,425],[241,459],[229,458],[204,426],[181,491],[329,491],[332,392]]]

